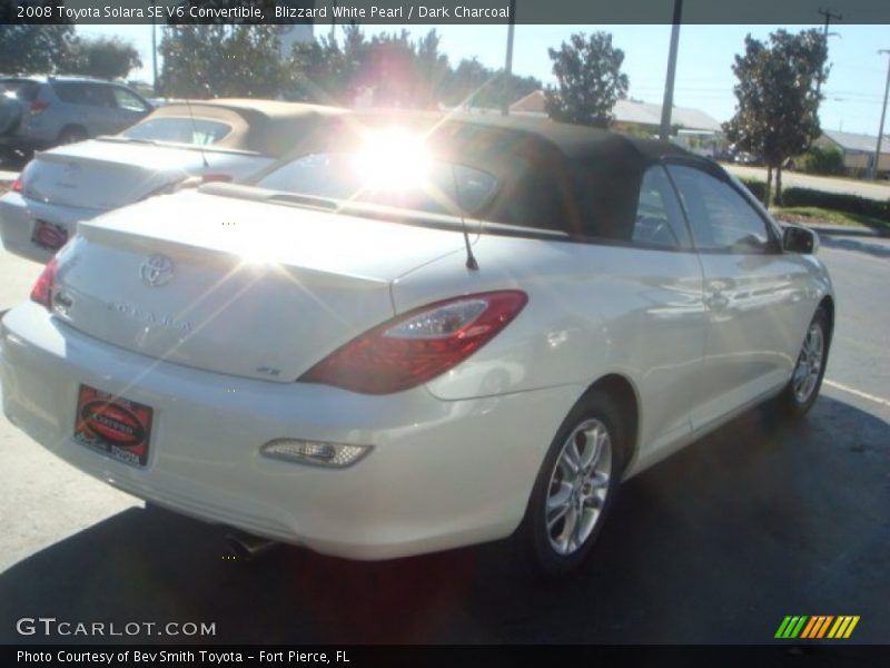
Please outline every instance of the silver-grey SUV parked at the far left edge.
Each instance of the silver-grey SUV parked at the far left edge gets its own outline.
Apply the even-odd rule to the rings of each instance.
[[[0,76],[0,148],[31,151],[113,135],[149,111],[145,98],[113,81]]]

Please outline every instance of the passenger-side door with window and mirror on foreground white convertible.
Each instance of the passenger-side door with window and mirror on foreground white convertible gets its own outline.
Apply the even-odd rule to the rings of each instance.
[[[811,308],[809,269],[722,169],[670,164],[704,272],[706,344],[696,430],[784,385]]]

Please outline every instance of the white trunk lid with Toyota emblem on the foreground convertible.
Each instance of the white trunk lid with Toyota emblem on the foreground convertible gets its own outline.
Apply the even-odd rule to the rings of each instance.
[[[57,314],[128,351],[290,382],[394,315],[389,286],[459,233],[180,193],[81,224]]]

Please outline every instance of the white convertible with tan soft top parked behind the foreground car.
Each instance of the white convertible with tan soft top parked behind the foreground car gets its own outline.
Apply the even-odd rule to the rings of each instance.
[[[323,118],[342,112],[268,100],[171,104],[120,135],[38,153],[0,197],[3,246],[47,262],[79,222],[180,187],[190,177],[253,176]]]

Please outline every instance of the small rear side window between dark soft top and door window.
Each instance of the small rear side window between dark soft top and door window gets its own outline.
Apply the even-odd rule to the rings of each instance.
[[[650,167],[640,185],[633,240],[645,246],[691,248],[683,212],[664,167]]]

